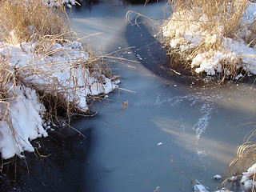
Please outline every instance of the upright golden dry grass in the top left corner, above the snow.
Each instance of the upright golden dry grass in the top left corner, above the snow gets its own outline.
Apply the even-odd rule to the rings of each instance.
[[[1,1],[0,18],[1,38],[12,44],[70,31],[65,10],[48,8],[40,0]]]

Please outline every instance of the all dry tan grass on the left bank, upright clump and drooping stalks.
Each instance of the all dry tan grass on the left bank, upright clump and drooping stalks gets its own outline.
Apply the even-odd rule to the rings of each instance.
[[[70,32],[70,22],[66,16],[65,9],[62,6],[48,7],[41,0],[4,0],[0,1],[0,26],[2,29],[1,40],[12,45],[22,42],[36,42],[34,61],[30,61],[25,66],[9,70],[10,56],[5,61],[0,63],[1,73],[1,90],[2,95],[6,95],[6,85],[8,82],[23,84],[31,86],[38,90],[37,85],[24,82],[24,79],[36,75],[42,79],[52,79],[54,71],[45,69],[53,69],[56,71],[72,71],[78,67],[88,69],[90,74],[94,74],[99,82],[103,82],[99,74],[105,74],[110,77],[109,67],[106,65],[104,58],[94,56],[90,53],[90,59],[84,60],[83,58],[72,57],[73,50],[66,50],[66,46],[74,41],[74,33]],[[61,48],[53,48],[55,43],[60,43],[65,46]],[[22,47],[22,44],[20,44]],[[25,50],[24,50],[25,51]],[[81,50],[82,52],[85,50]],[[25,51],[26,52],[26,51]],[[70,55],[66,62],[46,63],[45,65],[38,66],[36,62],[48,56],[66,54]],[[5,58],[6,55],[3,55]],[[65,66],[65,68],[63,68]],[[83,71],[85,74],[86,71]],[[70,74],[70,78],[77,77],[78,74]],[[67,81],[74,81],[74,79],[67,79]],[[87,80],[84,79],[86,86]],[[58,90],[62,87],[62,91]],[[38,93],[41,94],[42,101],[46,101],[49,116],[58,117],[59,110],[66,110],[68,118],[71,112],[78,113],[81,109],[74,102],[67,102],[66,98],[73,98],[71,95],[65,95],[73,89],[76,91],[75,86],[62,86],[62,82],[51,82],[44,86],[41,85]],[[3,96],[4,97],[4,96]],[[2,100],[1,100],[2,101]]]

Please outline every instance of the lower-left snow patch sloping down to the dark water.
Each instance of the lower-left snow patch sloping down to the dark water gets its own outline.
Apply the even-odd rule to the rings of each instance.
[[[38,102],[35,90],[26,86],[13,86],[9,94],[14,94],[9,102],[10,122],[0,122],[0,149],[2,158],[5,159],[13,157],[14,154],[21,155],[24,150],[34,152],[30,141],[47,136],[42,127],[45,108]]]

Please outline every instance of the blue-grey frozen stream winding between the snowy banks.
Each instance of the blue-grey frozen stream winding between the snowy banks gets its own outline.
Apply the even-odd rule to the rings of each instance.
[[[87,138],[74,132],[66,138],[68,145],[58,144],[62,153],[48,153],[44,166],[28,162],[34,174],[19,174],[22,185],[11,191],[153,192],[157,186],[163,192],[192,191],[190,178],[210,190],[218,186],[213,176],[224,174],[237,146],[255,129],[255,124],[245,124],[255,122],[256,86],[203,86],[194,78],[159,70],[166,58],[148,32],[157,31],[164,5],[124,6],[108,0],[72,11],[74,30],[81,37],[94,34],[84,39],[88,46],[104,54],[119,50],[111,55],[124,58],[112,58],[122,89],[94,102],[94,118],[73,123]],[[141,18],[140,28],[128,26],[128,10],[155,22]]]

